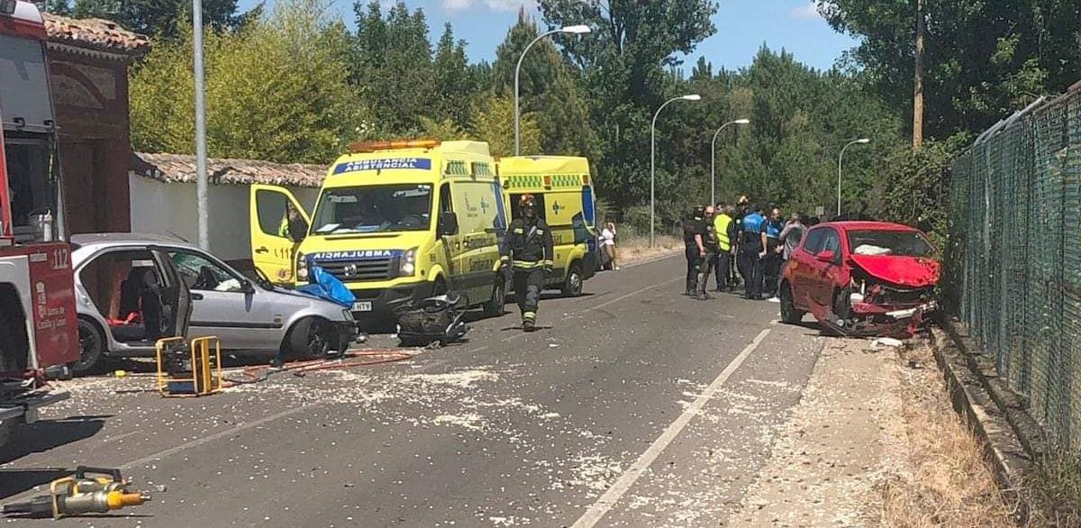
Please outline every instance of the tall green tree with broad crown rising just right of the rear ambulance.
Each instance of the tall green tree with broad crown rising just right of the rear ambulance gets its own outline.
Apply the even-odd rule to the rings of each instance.
[[[564,54],[582,70],[578,84],[588,101],[590,122],[600,156],[595,181],[598,193],[617,197],[624,208],[649,198],[650,121],[664,101],[664,66],[679,64],[712,35],[711,0],[540,0],[550,27],[587,24],[593,32],[563,39]],[[658,180],[673,181],[668,157],[660,160]]]

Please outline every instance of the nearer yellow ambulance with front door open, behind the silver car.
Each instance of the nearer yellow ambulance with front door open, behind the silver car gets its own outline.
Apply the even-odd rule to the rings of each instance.
[[[353,292],[358,316],[449,291],[503,314],[497,235],[508,220],[486,143],[355,144],[310,214],[282,187],[251,193],[252,260],[270,280],[303,286],[320,266]]]

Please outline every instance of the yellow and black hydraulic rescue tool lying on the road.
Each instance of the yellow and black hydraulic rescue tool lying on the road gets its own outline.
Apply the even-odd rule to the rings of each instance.
[[[75,475],[53,480],[49,485],[49,494],[4,504],[0,513],[12,517],[58,519],[108,513],[150,500],[148,493],[130,491],[130,484],[120,476],[120,470],[79,466]]]

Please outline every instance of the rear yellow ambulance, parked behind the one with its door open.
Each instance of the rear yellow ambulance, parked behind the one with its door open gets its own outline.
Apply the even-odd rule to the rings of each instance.
[[[599,256],[589,161],[570,156],[502,158],[498,174],[511,220],[521,214],[518,199],[530,194],[551,229],[556,260],[547,288],[569,296],[582,294],[583,282],[596,273]]]

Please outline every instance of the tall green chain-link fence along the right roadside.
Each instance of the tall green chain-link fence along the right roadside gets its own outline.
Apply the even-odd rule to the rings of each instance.
[[[1081,92],[984,132],[953,163],[950,214],[944,301],[1049,439],[1081,452]]]

